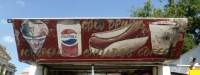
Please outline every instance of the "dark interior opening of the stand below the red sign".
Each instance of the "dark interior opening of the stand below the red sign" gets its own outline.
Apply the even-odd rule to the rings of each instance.
[[[43,64],[48,75],[91,75],[91,65]],[[94,65],[95,75],[152,75],[152,66]]]

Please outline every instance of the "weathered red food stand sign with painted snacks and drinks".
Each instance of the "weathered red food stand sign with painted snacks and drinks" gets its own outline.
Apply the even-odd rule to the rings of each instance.
[[[12,19],[20,61],[104,62],[178,59],[186,18]]]

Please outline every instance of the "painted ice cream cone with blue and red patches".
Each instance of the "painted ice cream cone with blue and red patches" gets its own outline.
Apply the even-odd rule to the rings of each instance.
[[[43,46],[48,28],[41,20],[24,20],[20,31],[34,52]]]

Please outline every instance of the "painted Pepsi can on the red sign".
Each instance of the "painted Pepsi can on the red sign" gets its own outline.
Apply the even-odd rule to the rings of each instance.
[[[57,23],[58,47],[62,56],[77,57],[82,53],[81,25],[76,20]]]

